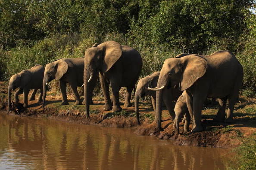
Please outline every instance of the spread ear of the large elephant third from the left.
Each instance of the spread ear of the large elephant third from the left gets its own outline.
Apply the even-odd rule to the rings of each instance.
[[[103,50],[103,72],[107,72],[122,55],[121,45],[115,41],[107,41],[97,46]]]

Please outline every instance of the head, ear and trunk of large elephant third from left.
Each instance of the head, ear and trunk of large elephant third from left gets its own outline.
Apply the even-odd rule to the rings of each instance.
[[[122,55],[121,45],[114,41],[95,43],[84,54],[84,102],[89,117],[89,83],[97,72],[104,74],[119,60]]]

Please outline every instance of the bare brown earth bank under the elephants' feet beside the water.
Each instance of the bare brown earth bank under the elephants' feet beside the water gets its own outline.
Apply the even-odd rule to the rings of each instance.
[[[37,96],[36,96],[37,98]],[[19,97],[22,99],[22,95]],[[37,118],[48,118],[59,121],[68,121],[79,124],[92,124],[102,127],[134,127],[138,135],[151,135],[159,139],[172,140],[176,145],[207,146],[234,148],[241,144],[241,140],[256,133],[256,99],[240,97],[234,110],[234,121],[232,123],[213,122],[216,115],[216,106],[206,106],[202,112],[202,123],[206,131],[198,133],[183,133],[183,123],[180,124],[181,134],[176,134],[172,128],[171,121],[164,121],[164,131],[158,131],[156,124],[152,123],[154,118],[153,108],[150,103],[140,103],[140,116],[142,125],[138,126],[134,106],[123,108],[122,112],[112,113],[103,111],[104,102],[102,98],[94,98],[94,105],[90,106],[90,118],[86,118],[84,105],[74,104],[72,95],[68,96],[69,105],[60,106],[61,96],[51,91],[47,92],[45,109],[37,100],[29,101],[28,109],[24,109],[21,103],[14,103],[14,111],[7,111],[7,82],[0,82],[0,113],[14,116],[30,116]],[[169,119],[169,114],[164,108],[162,119]]]

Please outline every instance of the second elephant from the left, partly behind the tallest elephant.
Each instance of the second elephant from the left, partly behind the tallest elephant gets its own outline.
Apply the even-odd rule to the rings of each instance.
[[[72,93],[75,97],[75,104],[81,105],[81,99],[79,97],[77,87],[83,85],[83,71],[84,71],[84,57],[81,58],[61,58],[48,63],[45,66],[44,70],[44,80],[43,80],[43,108],[45,105],[46,98],[46,85],[47,82],[52,81],[53,79],[59,80],[60,91],[62,94],[62,103],[61,105],[69,104],[67,99],[67,83],[69,83]],[[94,76],[91,83],[90,91],[90,102],[92,103],[92,93],[93,89],[97,84],[98,76]]]

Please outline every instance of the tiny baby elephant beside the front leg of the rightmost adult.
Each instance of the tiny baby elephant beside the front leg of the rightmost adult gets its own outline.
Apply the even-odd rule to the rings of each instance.
[[[184,124],[184,133],[189,131],[190,115],[189,115],[189,112],[187,109],[186,95],[187,95],[186,91],[183,91],[181,96],[178,98],[178,100],[175,104],[175,108],[174,108],[175,122],[176,122],[175,124],[176,124],[178,134],[180,133],[179,123],[180,123],[182,115],[184,115],[184,114],[186,117],[185,124]],[[175,124],[174,124],[174,126],[175,126]]]

